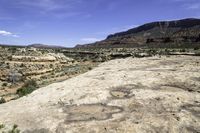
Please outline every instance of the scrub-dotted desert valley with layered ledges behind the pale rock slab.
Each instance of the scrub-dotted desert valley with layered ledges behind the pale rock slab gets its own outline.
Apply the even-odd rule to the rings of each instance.
[[[176,52],[181,54],[184,51],[191,53],[193,52],[193,54],[196,56],[200,55],[198,46],[190,50],[187,48],[151,48],[151,46],[156,44],[157,40],[149,38],[146,41],[149,43],[148,45],[146,44],[148,48],[94,47],[59,49],[59,51],[53,49],[15,48],[14,50],[16,51],[14,53],[10,53],[12,50],[9,50],[1,56],[3,57],[2,62],[4,63],[1,65],[2,69],[0,72],[4,76],[1,77],[2,81],[0,80],[0,89],[5,90],[6,94],[10,94],[11,88],[25,84],[22,87],[19,86],[20,89],[17,90],[17,94],[21,97],[37,89],[37,87],[27,85],[26,82],[30,79],[34,79],[37,82],[38,87],[41,87],[44,86],[43,83],[48,85],[54,82],[66,80],[78,74],[92,70],[92,68],[101,62],[112,59],[126,57],[143,58],[157,55],[166,56],[170,54],[176,54]],[[166,43],[165,45],[170,45],[170,43]],[[47,58],[49,55],[50,58]],[[18,95],[15,95],[16,98],[18,98]],[[11,99],[16,98],[12,97]]]

